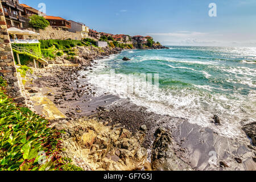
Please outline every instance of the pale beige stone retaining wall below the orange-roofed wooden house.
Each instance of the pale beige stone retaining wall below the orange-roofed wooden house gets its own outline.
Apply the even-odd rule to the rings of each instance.
[[[47,27],[46,30],[40,30],[39,31],[39,40],[47,40],[47,39],[59,39],[59,40],[66,40],[66,39],[72,39],[72,40],[82,40],[82,35],[63,31],[63,30],[56,30],[52,27]]]

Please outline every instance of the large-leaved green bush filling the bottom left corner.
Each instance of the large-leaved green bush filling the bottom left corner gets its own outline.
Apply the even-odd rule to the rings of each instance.
[[[6,86],[0,77],[0,171],[60,169],[63,131],[49,128],[45,118],[20,109],[7,96]]]

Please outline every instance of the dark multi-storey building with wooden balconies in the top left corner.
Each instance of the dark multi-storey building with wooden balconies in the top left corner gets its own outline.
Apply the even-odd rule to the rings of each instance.
[[[19,4],[19,1],[1,0],[1,2],[3,6],[3,13],[5,14],[7,28],[23,28],[24,23],[26,23],[28,19],[22,16],[24,9],[23,6]]]

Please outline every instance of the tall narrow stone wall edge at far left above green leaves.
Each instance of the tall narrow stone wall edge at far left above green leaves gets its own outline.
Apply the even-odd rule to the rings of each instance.
[[[20,90],[17,71],[14,62],[13,51],[11,50],[10,38],[7,32],[5,15],[3,14],[2,3],[0,2],[0,76],[3,76],[8,83],[7,93],[20,105],[25,104],[25,97]]]

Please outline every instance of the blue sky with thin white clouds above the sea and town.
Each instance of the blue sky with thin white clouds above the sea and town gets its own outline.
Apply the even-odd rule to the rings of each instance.
[[[19,2],[35,9],[44,3],[47,15],[83,22],[98,32],[150,35],[166,46],[256,46],[256,0]]]

